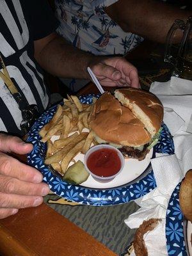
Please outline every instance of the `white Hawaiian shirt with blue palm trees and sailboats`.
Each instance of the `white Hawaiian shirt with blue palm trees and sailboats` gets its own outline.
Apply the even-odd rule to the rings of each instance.
[[[58,33],[75,47],[95,55],[122,54],[143,38],[126,33],[105,12],[118,0],[55,0]]]

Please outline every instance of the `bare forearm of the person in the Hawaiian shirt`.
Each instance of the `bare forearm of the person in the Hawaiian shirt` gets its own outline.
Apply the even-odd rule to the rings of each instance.
[[[153,0],[119,0],[106,8],[111,19],[126,32],[164,43],[168,30],[175,19],[186,20],[191,14],[169,4]],[[179,40],[180,34],[175,40]]]

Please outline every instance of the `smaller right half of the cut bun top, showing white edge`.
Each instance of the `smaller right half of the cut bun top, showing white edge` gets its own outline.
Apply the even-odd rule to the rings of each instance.
[[[151,136],[159,131],[163,121],[163,105],[156,95],[130,87],[115,90],[115,97],[145,125]]]

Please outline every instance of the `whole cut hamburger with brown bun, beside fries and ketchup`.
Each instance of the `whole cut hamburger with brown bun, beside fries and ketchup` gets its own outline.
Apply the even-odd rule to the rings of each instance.
[[[90,127],[96,143],[117,147],[125,157],[145,158],[156,145],[163,121],[163,105],[156,95],[136,88],[103,93],[95,102]]]

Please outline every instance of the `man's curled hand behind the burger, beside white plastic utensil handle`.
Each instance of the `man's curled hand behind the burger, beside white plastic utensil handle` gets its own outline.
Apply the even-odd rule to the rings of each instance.
[[[90,64],[90,67],[102,86],[140,87],[138,70],[124,58],[101,59],[97,64]]]

